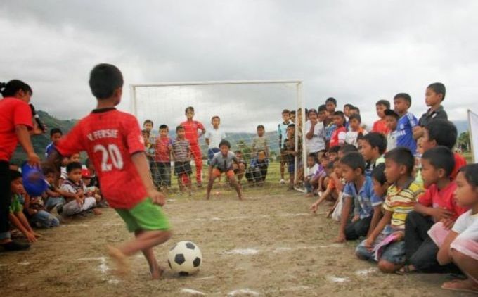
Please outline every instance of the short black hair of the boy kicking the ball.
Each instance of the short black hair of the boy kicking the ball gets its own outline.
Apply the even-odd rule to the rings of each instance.
[[[98,64],[90,72],[89,85],[96,99],[108,99],[123,87],[123,75],[115,65]]]

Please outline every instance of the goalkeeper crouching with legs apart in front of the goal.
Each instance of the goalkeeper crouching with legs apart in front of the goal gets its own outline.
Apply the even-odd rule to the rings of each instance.
[[[231,186],[234,187],[235,191],[238,192],[238,197],[240,200],[243,200],[243,193],[240,191],[240,185],[235,180],[233,163],[238,164],[239,160],[235,157],[235,154],[229,149],[231,144],[227,140],[221,140],[219,143],[219,151],[214,154],[212,157],[211,163],[209,164],[209,182],[207,183],[207,194],[206,199],[209,200],[209,195],[211,194],[212,184],[214,184],[214,179],[219,177],[221,173],[225,173],[228,177]]]

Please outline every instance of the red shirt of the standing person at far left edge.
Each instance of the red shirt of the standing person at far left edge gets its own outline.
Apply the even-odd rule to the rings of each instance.
[[[0,160],[9,161],[18,144],[15,127],[33,129],[32,110],[25,101],[14,97],[0,100]]]

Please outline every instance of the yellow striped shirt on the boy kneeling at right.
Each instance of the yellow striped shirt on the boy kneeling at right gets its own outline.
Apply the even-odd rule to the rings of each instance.
[[[390,225],[394,229],[405,229],[406,216],[413,210],[418,195],[422,192],[423,188],[415,181],[410,182],[404,189],[396,187],[396,184],[388,188],[383,208],[393,213]]]

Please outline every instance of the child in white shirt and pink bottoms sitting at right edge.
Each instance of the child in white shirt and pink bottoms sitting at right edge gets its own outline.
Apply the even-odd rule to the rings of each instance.
[[[430,237],[440,247],[440,265],[455,263],[467,279],[454,279],[441,285],[442,289],[478,293],[478,164],[460,168],[456,176],[455,197],[458,206],[470,208],[460,215],[448,231],[446,220],[433,225]],[[449,226],[449,225],[448,225]],[[449,229],[449,227],[448,227]]]

